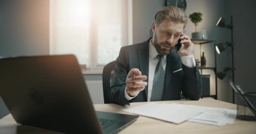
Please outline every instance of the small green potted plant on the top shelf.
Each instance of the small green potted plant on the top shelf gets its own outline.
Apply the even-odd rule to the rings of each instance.
[[[190,21],[195,25],[195,33],[192,33],[192,39],[200,39],[199,32],[197,32],[197,25],[199,22],[203,21],[202,16],[203,14],[200,12],[195,12],[189,15]]]

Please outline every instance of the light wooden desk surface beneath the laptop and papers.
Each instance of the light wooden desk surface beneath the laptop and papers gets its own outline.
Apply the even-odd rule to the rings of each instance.
[[[138,106],[147,102],[131,103],[131,106]],[[211,98],[200,99],[199,101],[159,101],[154,103],[180,103],[187,105],[208,106],[215,108],[229,108],[236,109],[236,105],[226,103],[223,101],[214,100]],[[130,106],[119,106],[116,104],[95,104],[96,111],[106,111],[113,113],[126,113],[122,108]],[[9,114],[0,120],[1,126],[15,124],[12,116]],[[256,134],[256,121],[243,121],[236,119],[234,124],[227,124],[225,126],[212,126],[208,124],[199,124],[193,122],[184,122],[181,124],[172,124],[157,119],[152,119],[144,116],[139,116],[137,121],[120,131],[120,134]]]

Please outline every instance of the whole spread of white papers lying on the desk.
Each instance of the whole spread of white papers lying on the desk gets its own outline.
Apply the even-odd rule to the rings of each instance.
[[[124,108],[123,111],[177,124],[184,121],[192,121],[224,126],[227,123],[233,124],[236,118],[236,110],[176,103],[148,103],[141,106]]]

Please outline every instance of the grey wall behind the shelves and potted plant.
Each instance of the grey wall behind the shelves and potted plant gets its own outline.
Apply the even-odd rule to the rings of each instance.
[[[216,40],[216,43],[225,42],[229,39],[229,32],[225,28],[216,27],[216,23],[222,16],[227,18],[227,2],[223,0],[187,0],[186,14],[189,15],[194,12],[203,13],[203,21],[197,26],[197,31],[201,32],[202,29],[206,29],[208,39]],[[187,35],[191,37],[191,33],[195,32],[194,24],[189,20],[187,27],[185,28]],[[195,46],[195,59],[200,59],[200,45]],[[206,66],[214,67],[214,43],[208,43],[201,45],[201,52],[205,52]],[[229,51],[225,51],[216,55],[217,69],[221,70],[224,67],[229,66]],[[203,70],[203,74],[210,74],[210,88],[211,95],[215,95],[215,74],[212,70]],[[229,77],[225,77],[224,80],[217,79],[218,82],[218,100],[232,102],[232,96],[230,95],[232,89],[229,89]]]

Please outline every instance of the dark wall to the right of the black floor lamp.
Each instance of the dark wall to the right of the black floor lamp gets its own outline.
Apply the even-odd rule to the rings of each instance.
[[[256,1],[229,0],[228,3],[234,26],[235,83],[245,91],[256,92]]]

